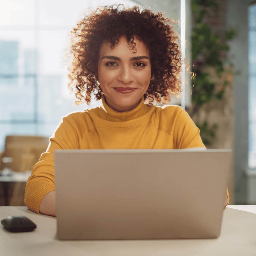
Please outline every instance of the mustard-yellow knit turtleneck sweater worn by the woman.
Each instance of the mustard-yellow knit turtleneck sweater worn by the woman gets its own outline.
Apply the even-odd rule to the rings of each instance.
[[[125,112],[110,108],[105,95],[96,108],[64,116],[39,162],[33,167],[25,188],[25,204],[39,214],[39,204],[55,190],[55,149],[167,149],[205,147],[200,130],[178,105],[139,105]],[[228,201],[229,194],[226,189]]]

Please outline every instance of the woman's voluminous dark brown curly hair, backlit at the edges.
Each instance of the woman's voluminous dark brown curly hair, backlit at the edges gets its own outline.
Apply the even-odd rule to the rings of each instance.
[[[166,104],[170,102],[170,94],[180,98],[181,52],[175,43],[178,37],[168,24],[170,19],[162,17],[161,12],[154,14],[147,9],[140,12],[139,6],[120,10],[120,5],[123,4],[117,5],[117,8],[114,5],[98,6],[80,20],[70,33],[70,53],[73,60],[68,67],[70,73],[67,76],[71,92],[75,81],[75,95],[79,99],[75,104],[82,103],[83,98],[89,105],[95,89],[96,99],[101,99],[103,91],[98,82],[99,50],[103,42],[110,42],[111,48],[114,48],[121,36],[126,36],[127,43],[133,45],[133,49],[136,46],[133,36],[148,47],[151,80],[144,94],[144,102],[153,105],[155,100]]]

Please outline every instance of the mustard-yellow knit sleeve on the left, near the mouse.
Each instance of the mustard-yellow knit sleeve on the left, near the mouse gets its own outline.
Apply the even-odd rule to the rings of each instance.
[[[78,148],[79,140],[71,116],[65,116],[58,124],[53,135],[49,138],[46,152],[41,154],[34,165],[25,188],[25,205],[30,210],[39,213],[42,198],[55,190],[54,158],[55,149]],[[70,120],[71,119],[71,120]]]

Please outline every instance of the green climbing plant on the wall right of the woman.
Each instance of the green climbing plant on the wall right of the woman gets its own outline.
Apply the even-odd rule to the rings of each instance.
[[[228,80],[222,80],[221,89],[216,90],[216,84],[212,80],[212,74],[208,73],[207,67],[214,70],[215,75],[221,78],[223,73],[233,72],[232,63],[228,63],[227,52],[228,41],[237,35],[237,30],[229,28],[222,34],[213,33],[211,27],[205,21],[209,17],[217,16],[219,5],[214,0],[192,0],[192,108],[188,109],[193,116],[199,108],[214,99],[221,100],[225,95],[226,87],[230,84]],[[233,72],[234,73],[234,72]],[[232,73],[232,74],[233,74]],[[200,136],[204,145],[211,145],[215,137],[217,124],[208,126],[207,121],[196,123],[200,129]]]

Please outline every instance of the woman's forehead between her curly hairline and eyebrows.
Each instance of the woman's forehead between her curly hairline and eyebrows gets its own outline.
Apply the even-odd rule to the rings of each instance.
[[[129,45],[127,43],[127,39],[125,36],[120,37],[119,42],[114,46],[114,48],[110,48],[110,42],[104,42],[101,45],[99,57],[102,57],[105,54],[115,54],[118,56],[147,55],[149,57],[149,50],[144,42],[140,41],[136,37],[134,37],[134,42],[136,43],[135,48],[137,49],[137,52],[135,49],[132,49],[133,45]]]

